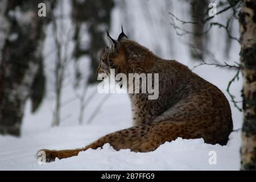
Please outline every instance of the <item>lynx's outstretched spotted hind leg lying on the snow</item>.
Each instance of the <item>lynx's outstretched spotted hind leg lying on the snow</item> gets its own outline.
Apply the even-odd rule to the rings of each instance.
[[[155,122],[150,125],[139,125],[129,129],[117,131],[106,135],[96,142],[88,146],[76,150],[43,150],[46,152],[46,162],[52,162],[55,158],[63,159],[71,156],[76,156],[80,151],[88,150],[89,148],[97,149],[109,143],[115,150],[130,148],[134,152],[149,152],[154,151],[164,142],[170,142],[177,137],[184,139],[204,138],[207,141],[207,135],[199,127],[193,127],[195,123],[189,122],[171,122],[162,121]],[[208,143],[213,143],[209,142]]]

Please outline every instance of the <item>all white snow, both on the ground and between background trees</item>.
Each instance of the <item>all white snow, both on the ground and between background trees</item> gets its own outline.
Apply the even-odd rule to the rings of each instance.
[[[166,3],[167,1],[163,2]],[[124,28],[127,27],[127,30],[131,29],[131,38],[147,46],[159,56],[166,59],[177,59],[181,63],[188,65],[189,68],[193,68],[194,65],[199,63],[193,62],[190,59],[189,49],[183,41],[188,41],[188,39],[178,37],[169,25],[164,27],[164,33],[161,32],[159,26],[163,26],[166,22],[162,22],[162,25],[160,23],[153,24],[151,27],[152,24],[147,22],[148,18],[142,14],[143,3],[148,3],[148,9],[152,10],[152,7],[155,7],[154,14],[158,14],[157,10],[162,10],[167,6],[166,4],[156,3],[155,1],[143,1],[143,3],[139,3],[139,1],[126,1],[126,3],[128,3],[126,11],[129,12],[132,9],[133,15],[128,16],[130,19],[128,22],[125,22],[126,24],[122,24]],[[182,6],[180,6],[180,3]],[[179,6],[180,9],[171,5],[167,7],[180,18],[188,19],[182,13],[186,9],[188,10],[187,3],[179,1],[175,6]],[[121,25],[124,18],[127,20],[126,15],[119,16],[122,12],[125,12],[121,10],[121,7],[121,5],[118,5],[112,13],[113,26],[111,32],[114,37],[121,31],[119,25]],[[152,16],[153,19],[151,20],[158,22],[159,19],[166,17],[166,14],[163,11],[161,12],[159,16]],[[219,16],[217,18],[221,19]],[[233,26],[237,26],[237,24]],[[49,32],[48,36],[50,35],[51,32]],[[209,40],[209,49],[214,56],[217,56],[216,59],[225,60],[227,63],[232,64],[234,61],[239,60],[240,47],[237,43],[233,43],[230,48],[230,57],[226,58],[224,56],[225,44],[220,42],[222,39],[225,40],[224,35],[225,31],[219,28],[213,29]],[[238,33],[235,35],[238,35]],[[164,39],[166,36],[168,36],[168,39]],[[47,38],[45,52],[51,51],[51,45],[52,40]],[[163,49],[161,49],[162,47]],[[49,55],[47,56],[46,63],[50,65],[52,60],[54,60],[54,55]],[[86,61],[88,61],[87,58],[84,59],[84,64]],[[83,66],[81,68],[84,69]],[[236,71],[201,66],[193,69],[193,72],[196,72],[222,90],[232,107],[234,129],[240,129],[242,113],[234,107],[226,93],[228,81],[231,80]],[[126,94],[111,94],[98,111],[96,117],[88,121],[98,102],[106,96],[106,94],[99,93],[89,102],[84,112],[84,123],[79,125],[80,102],[75,97],[72,85],[68,85],[65,86],[62,96],[63,103],[65,104],[61,107],[60,126],[51,127],[55,97],[52,92],[52,84],[49,83],[52,82],[51,76],[48,75],[48,77],[47,97],[38,112],[31,114],[31,102],[28,101],[26,104],[22,137],[16,138],[0,135],[1,170],[238,170],[240,168],[241,130],[230,134],[230,140],[226,146],[206,144],[203,139],[187,140],[177,138],[172,142],[162,144],[155,151],[135,153],[130,150],[115,151],[109,144],[105,144],[102,149],[89,149],[80,152],[78,156],[72,158],[39,165],[36,159],[36,152],[42,148],[62,150],[84,147],[103,135],[133,125],[130,101]],[[241,101],[241,86],[242,79],[234,82],[230,88],[237,101]],[[88,98],[90,94],[96,92],[96,88],[97,85],[90,86],[86,97]],[[79,92],[81,93],[81,91],[80,89]],[[212,154],[212,151],[216,154],[216,164],[209,164],[211,157],[209,154]]]

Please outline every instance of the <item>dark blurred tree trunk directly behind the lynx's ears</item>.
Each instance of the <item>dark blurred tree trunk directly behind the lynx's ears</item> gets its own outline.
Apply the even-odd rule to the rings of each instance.
[[[81,56],[90,57],[90,75],[88,82],[97,82],[97,67],[99,56],[102,48],[105,47],[104,36],[105,28],[110,26],[110,13],[114,7],[114,1],[87,0],[78,1],[72,0],[72,21],[75,26],[75,51],[73,56],[77,61]],[[81,27],[85,25],[86,30]],[[121,26],[121,25],[120,25]],[[89,35],[89,43],[81,41],[81,35]],[[89,46],[84,46],[88,44]],[[80,79],[81,73],[76,69],[77,78]],[[76,86],[79,85],[79,80],[76,80]]]

